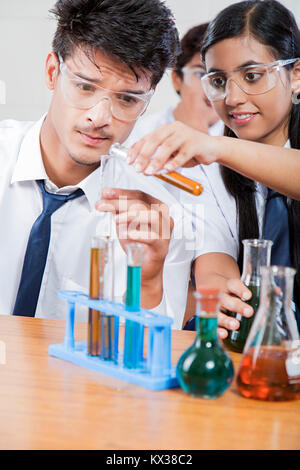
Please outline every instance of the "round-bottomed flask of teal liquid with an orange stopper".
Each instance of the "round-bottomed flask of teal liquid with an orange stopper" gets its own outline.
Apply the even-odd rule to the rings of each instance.
[[[232,382],[232,361],[217,337],[218,289],[200,288],[196,298],[196,338],[180,357],[177,377],[181,387],[191,396],[216,398]]]

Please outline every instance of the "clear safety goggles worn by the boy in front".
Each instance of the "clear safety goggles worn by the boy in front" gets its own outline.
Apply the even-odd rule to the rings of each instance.
[[[146,93],[108,90],[71,72],[61,58],[59,64],[64,98],[74,108],[90,109],[105,99],[109,101],[111,113],[116,119],[136,121],[146,110],[154,93],[152,88]]]

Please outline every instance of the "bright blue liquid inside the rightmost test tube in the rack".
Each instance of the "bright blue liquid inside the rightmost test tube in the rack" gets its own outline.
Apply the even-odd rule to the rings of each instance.
[[[126,310],[138,312],[141,304],[141,266],[127,266]],[[124,367],[140,367],[143,357],[144,326],[125,322]]]

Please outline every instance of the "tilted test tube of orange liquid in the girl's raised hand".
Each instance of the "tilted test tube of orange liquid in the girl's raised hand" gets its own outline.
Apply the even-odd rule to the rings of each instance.
[[[113,144],[109,149],[110,155],[119,156],[123,159],[126,159],[127,152],[128,149],[119,143]],[[166,183],[172,184],[173,186],[176,186],[177,188],[192,194],[193,196],[199,196],[203,191],[203,188],[198,181],[194,181],[187,176],[183,176],[180,173],[177,173],[176,171],[172,171],[170,173],[160,173],[154,176],[163,181],[166,181]]]

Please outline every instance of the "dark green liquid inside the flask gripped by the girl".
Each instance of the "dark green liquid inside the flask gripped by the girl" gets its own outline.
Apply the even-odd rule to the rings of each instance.
[[[253,324],[253,320],[259,305],[260,286],[247,286],[252,292],[252,297],[246,303],[251,305],[254,314],[250,318],[246,318],[235,312],[227,312],[230,317],[236,318],[240,322],[238,330],[228,330],[228,336],[223,340],[224,344],[232,351],[243,352],[249,331]]]

